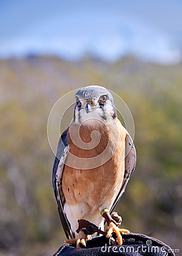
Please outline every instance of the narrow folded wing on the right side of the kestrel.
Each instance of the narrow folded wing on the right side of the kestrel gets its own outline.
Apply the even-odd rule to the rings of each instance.
[[[125,137],[125,172],[124,172],[124,179],[122,181],[120,192],[118,193],[110,212],[113,212],[115,209],[118,201],[120,200],[122,194],[125,192],[126,185],[136,167],[137,155],[136,155],[136,148],[134,147],[134,143],[132,138],[130,137],[129,133],[126,133]]]

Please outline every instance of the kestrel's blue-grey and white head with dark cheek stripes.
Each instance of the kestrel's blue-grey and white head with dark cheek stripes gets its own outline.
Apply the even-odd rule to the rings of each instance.
[[[75,94],[75,99],[75,123],[81,124],[88,119],[110,123],[117,116],[112,94],[102,86],[83,87]]]

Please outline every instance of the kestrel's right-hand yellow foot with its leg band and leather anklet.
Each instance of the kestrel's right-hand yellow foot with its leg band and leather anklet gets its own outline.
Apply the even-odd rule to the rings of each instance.
[[[118,245],[122,245],[122,233],[130,233],[128,229],[120,229],[118,228],[119,225],[121,225],[122,218],[121,216],[118,216],[116,212],[113,212],[111,215],[109,214],[108,209],[103,209],[100,212],[101,216],[105,218],[105,221],[108,225],[107,235],[106,237],[111,237],[111,234],[113,232],[116,233],[117,237],[117,243]]]

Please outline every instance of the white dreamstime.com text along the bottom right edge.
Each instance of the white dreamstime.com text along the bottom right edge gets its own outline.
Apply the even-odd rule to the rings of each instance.
[[[151,240],[146,241],[146,245],[121,245],[121,246],[105,246],[101,247],[102,253],[130,253],[136,255],[137,253],[155,253],[167,256],[169,253],[180,253],[180,249],[170,249],[166,246],[153,246]]]

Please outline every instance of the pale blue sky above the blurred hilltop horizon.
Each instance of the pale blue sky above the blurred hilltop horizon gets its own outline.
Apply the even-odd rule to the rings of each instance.
[[[0,2],[0,57],[29,53],[105,60],[134,54],[159,63],[181,61],[182,1]]]

